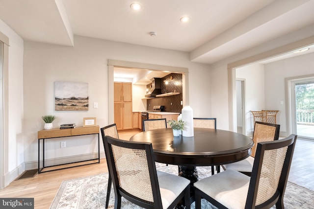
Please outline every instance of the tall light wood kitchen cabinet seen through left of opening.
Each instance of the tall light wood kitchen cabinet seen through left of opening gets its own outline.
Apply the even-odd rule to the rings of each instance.
[[[117,130],[133,128],[132,83],[114,82],[114,122]]]

